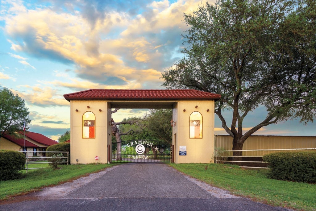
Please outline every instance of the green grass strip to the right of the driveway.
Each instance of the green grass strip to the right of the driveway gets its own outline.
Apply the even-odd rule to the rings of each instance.
[[[315,210],[316,185],[269,179],[267,170],[223,164],[170,164],[188,176],[275,207]]]

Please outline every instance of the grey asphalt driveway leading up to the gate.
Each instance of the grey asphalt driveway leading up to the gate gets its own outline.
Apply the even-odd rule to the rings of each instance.
[[[161,163],[127,163],[2,202],[1,210],[288,210],[238,197]]]

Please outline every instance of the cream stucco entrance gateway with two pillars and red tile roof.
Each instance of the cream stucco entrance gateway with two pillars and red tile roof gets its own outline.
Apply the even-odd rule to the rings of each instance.
[[[99,163],[112,162],[112,108],[173,109],[172,161],[214,162],[214,103],[220,97],[192,89],[89,89],[64,94],[70,102],[70,162],[95,163],[96,157]]]

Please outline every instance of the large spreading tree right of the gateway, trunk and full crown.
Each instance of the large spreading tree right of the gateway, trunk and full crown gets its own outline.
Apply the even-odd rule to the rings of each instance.
[[[221,94],[215,113],[233,137],[233,150],[260,128],[315,118],[315,1],[218,0],[184,15],[185,56],[162,78],[167,88]],[[249,112],[267,115],[243,131]],[[231,125],[222,115],[232,110]],[[234,155],[241,155],[234,152]]]

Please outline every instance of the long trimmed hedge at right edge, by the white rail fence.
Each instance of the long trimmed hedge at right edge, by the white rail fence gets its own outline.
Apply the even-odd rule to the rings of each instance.
[[[316,152],[280,152],[262,157],[269,163],[270,178],[315,183]]]

